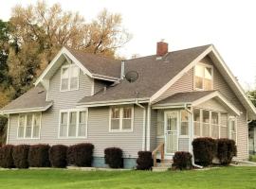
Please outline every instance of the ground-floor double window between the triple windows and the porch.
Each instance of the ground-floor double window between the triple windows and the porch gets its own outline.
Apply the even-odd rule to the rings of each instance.
[[[133,107],[113,107],[110,109],[110,131],[133,130]]]

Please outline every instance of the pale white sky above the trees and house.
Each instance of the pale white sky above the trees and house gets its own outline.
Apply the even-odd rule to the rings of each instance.
[[[3,0],[2,0],[3,1]],[[16,4],[36,1],[8,0],[0,6],[7,21]],[[64,10],[78,11],[86,21],[102,9],[120,13],[123,26],[133,35],[119,50],[121,56],[155,54],[156,42],[164,39],[169,51],[212,43],[234,76],[247,90],[256,87],[255,0],[46,0]]]

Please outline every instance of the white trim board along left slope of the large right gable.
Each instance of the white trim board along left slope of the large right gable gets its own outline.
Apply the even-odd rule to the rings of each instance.
[[[173,77],[167,84],[165,84],[160,90],[153,94],[150,98],[150,102],[154,102],[161,94],[168,90],[180,77],[186,74],[192,69],[192,67],[199,61],[207,56],[211,51],[211,45],[208,47],[201,55],[199,55],[195,60],[192,60],[181,72],[179,72],[175,77]]]

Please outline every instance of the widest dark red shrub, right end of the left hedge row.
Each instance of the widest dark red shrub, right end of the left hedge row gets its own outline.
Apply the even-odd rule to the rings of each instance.
[[[91,166],[93,160],[93,149],[94,146],[90,143],[69,146],[66,152],[68,164]]]

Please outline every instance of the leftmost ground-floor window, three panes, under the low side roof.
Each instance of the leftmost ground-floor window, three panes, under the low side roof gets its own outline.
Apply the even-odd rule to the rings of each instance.
[[[20,114],[18,122],[18,138],[39,139],[41,117],[41,113]]]

